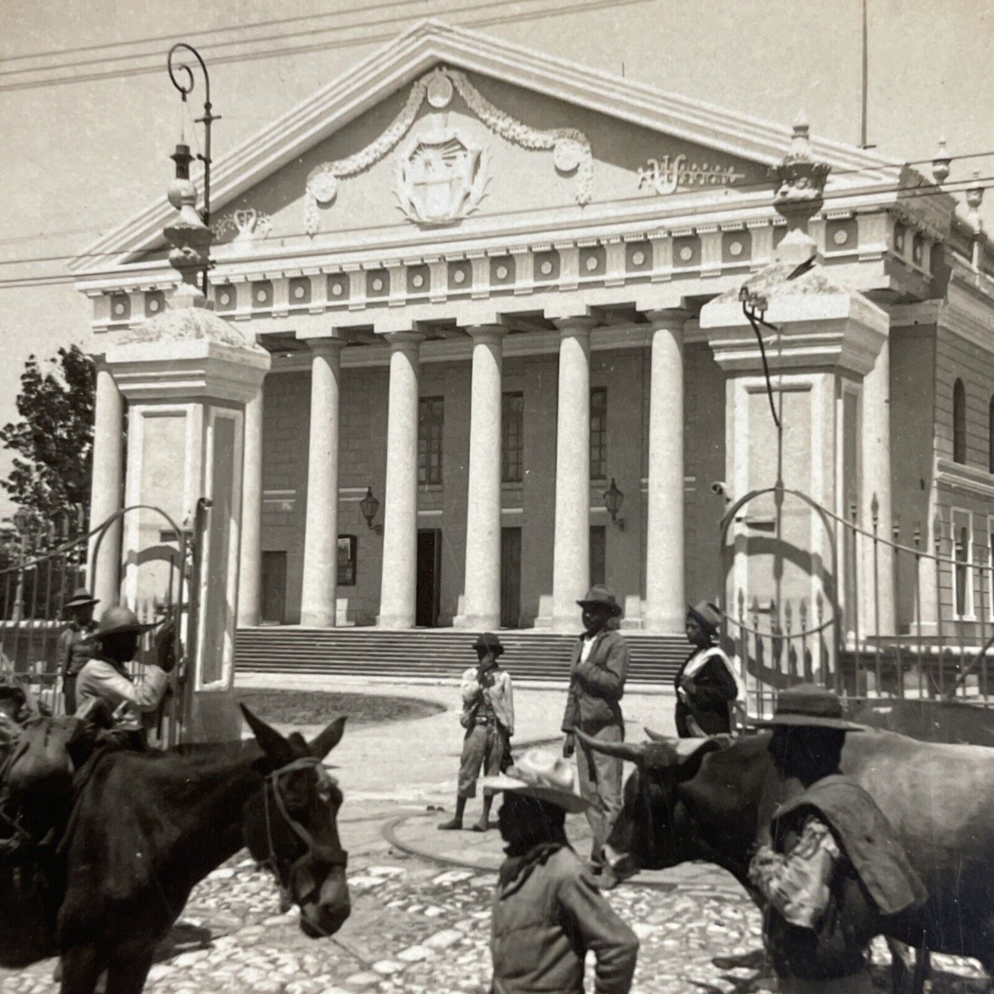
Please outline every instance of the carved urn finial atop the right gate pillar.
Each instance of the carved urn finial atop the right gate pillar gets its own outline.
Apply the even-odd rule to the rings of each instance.
[[[825,181],[832,167],[815,159],[809,131],[802,111],[794,119],[787,154],[770,170],[776,178],[773,207],[787,221],[787,234],[776,252],[778,261],[806,261],[815,253],[807,226],[824,203]]]

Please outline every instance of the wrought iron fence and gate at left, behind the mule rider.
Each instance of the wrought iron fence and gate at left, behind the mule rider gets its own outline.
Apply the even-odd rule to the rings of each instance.
[[[197,544],[190,533],[177,528],[159,508],[124,508],[97,527],[86,530],[83,514],[73,509],[50,524],[33,523],[9,529],[0,537],[0,669],[16,674],[27,683],[38,702],[52,714],[64,711],[61,639],[69,619],[64,605],[77,586],[84,585],[90,545],[94,555],[116,556],[101,545],[112,526],[139,509],[162,514],[176,536],[174,555],[169,557],[168,580],[159,594],[127,603],[140,621],[152,622],[135,660],[129,665],[132,677],[140,677],[155,649],[160,626],[172,621],[173,651],[177,665],[170,688],[150,729],[153,745],[174,745],[182,737],[188,713],[186,660],[196,631],[192,621],[196,607]],[[20,524],[20,523],[19,523]],[[200,524],[198,522],[198,524]]]

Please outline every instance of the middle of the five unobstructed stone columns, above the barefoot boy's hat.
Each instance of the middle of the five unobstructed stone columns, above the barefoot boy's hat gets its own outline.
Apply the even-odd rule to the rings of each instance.
[[[469,415],[466,580],[460,628],[500,625],[501,364],[503,325],[477,325]]]

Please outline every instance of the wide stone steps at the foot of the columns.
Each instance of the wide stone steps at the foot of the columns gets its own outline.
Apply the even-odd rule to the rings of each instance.
[[[631,683],[671,686],[690,647],[677,635],[625,632]],[[237,668],[249,673],[336,674],[396,679],[454,678],[474,661],[474,632],[452,628],[240,628]],[[501,664],[519,680],[565,683],[576,636],[534,629],[501,631]]]

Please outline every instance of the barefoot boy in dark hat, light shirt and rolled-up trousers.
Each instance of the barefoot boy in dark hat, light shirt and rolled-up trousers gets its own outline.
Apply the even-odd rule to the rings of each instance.
[[[510,762],[511,736],[514,735],[514,694],[511,674],[500,667],[498,660],[504,646],[492,632],[484,632],[473,643],[476,666],[464,670],[460,690],[462,715],[460,724],[466,730],[459,761],[459,780],[455,795],[455,814],[438,828],[453,831],[462,828],[466,801],[476,796],[476,780],[480,769],[492,776]],[[483,811],[473,825],[474,832],[490,827],[490,805],[493,795],[484,791]]]

